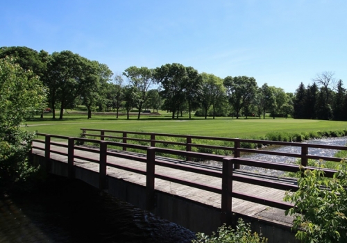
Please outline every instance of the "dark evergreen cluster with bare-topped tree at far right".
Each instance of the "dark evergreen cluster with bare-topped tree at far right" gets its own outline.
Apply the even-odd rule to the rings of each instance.
[[[333,76],[323,72],[312,79],[312,85],[299,85],[293,100],[294,118],[347,121],[346,89]]]

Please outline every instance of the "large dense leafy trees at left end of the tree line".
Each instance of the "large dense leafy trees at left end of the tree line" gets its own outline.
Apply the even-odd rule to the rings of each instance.
[[[1,47],[0,58],[6,56],[15,58],[24,71],[31,70],[33,75],[40,77],[46,87],[46,103],[53,111],[53,118],[56,118],[58,108],[62,119],[64,110],[74,106],[78,100],[88,108],[90,118],[92,107],[103,99],[103,90],[113,75],[107,65],[71,51],[49,54],[27,47]],[[43,115],[44,110],[41,112]]]

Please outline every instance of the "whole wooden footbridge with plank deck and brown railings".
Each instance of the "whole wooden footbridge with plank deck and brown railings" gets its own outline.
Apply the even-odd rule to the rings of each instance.
[[[298,190],[296,179],[250,173],[240,170],[239,165],[288,172],[300,171],[300,167],[276,161],[248,160],[240,154],[266,153],[301,158],[301,164],[307,167],[308,159],[341,160],[312,156],[310,148],[347,150],[346,146],[294,142],[81,130],[82,137],[37,133],[42,139],[33,142],[34,161],[40,162],[50,173],[81,179],[192,231],[210,233],[224,222],[232,224],[238,217],[243,217],[252,221],[255,230],[262,231],[273,242],[295,241],[290,230],[292,219],[284,214],[291,205],[282,199],[286,191]],[[167,140],[170,137],[182,142]],[[233,146],[212,146],[209,141]],[[245,143],[298,146],[301,153],[242,148],[241,144]],[[165,148],[168,144],[181,150]],[[194,148],[218,149],[230,152],[230,156],[198,153]],[[173,156],[175,158],[170,158]],[[194,162],[197,160],[217,161],[221,167]],[[324,170],[326,176],[335,172]],[[274,240],[274,235],[280,239]]]

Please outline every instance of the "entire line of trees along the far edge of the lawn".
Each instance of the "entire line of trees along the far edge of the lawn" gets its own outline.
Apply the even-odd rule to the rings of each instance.
[[[48,92],[48,106],[53,118],[60,110],[83,104],[88,110],[116,112],[136,108],[142,111],[167,110],[172,118],[183,113],[205,117],[291,117],[303,119],[347,119],[346,90],[340,80],[336,88],[333,74],[323,72],[312,85],[299,85],[296,92],[287,93],[266,83],[257,86],[255,78],[199,73],[193,67],[179,63],[148,67],[128,67],[123,74],[113,76],[107,65],[88,60],[71,51],[35,51],[28,47],[1,47],[0,58],[12,56],[23,69],[32,70]],[[125,81],[126,79],[126,81]],[[43,115],[43,113],[42,113]]]

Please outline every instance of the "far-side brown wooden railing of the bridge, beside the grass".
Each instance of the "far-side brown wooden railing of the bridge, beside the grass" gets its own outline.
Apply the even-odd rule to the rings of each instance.
[[[309,153],[309,149],[332,149],[332,150],[347,150],[347,146],[332,146],[323,144],[309,144],[307,142],[278,142],[270,140],[249,140],[249,139],[239,139],[230,137],[209,137],[209,136],[196,136],[196,135],[177,135],[169,133],[144,133],[144,132],[131,132],[131,131],[113,131],[113,130],[103,130],[103,129],[91,129],[91,128],[81,128],[81,135],[83,137],[100,137],[100,140],[109,139],[119,139],[123,144],[127,144],[131,141],[136,142],[147,142],[150,146],[155,147],[156,144],[174,144],[185,147],[185,151],[192,151],[192,147],[205,148],[205,149],[218,149],[223,151],[232,151],[234,158],[240,158],[241,153],[260,153],[268,154],[272,156],[287,156],[301,159],[301,165],[306,167],[309,159],[314,160],[325,160],[340,162],[342,158],[328,157],[328,156],[314,156]],[[87,133],[97,132],[97,133]],[[116,135],[110,135],[116,134]],[[142,135],[147,138],[137,138],[130,137],[129,135]],[[179,137],[185,140],[185,142],[172,142],[165,140],[157,140],[157,137]],[[232,144],[232,146],[217,146],[209,144],[201,144],[198,141],[210,140],[210,141],[223,141]],[[195,141],[195,142],[193,142]],[[278,151],[269,151],[266,149],[248,149],[242,147],[242,144],[262,144],[262,145],[277,145],[277,146],[295,146],[299,147],[300,153],[285,153]],[[123,150],[126,151],[126,146],[123,146]],[[186,158],[190,160],[189,156]],[[239,164],[235,164],[235,169],[239,169]]]

